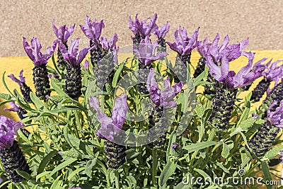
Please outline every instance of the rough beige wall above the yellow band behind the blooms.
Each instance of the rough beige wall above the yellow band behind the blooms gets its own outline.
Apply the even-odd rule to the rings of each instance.
[[[192,33],[200,26],[200,39],[210,40],[216,33],[229,34],[231,42],[250,37],[249,49],[283,49],[283,1],[4,1],[0,0],[0,56],[25,56],[22,36],[37,37],[42,47],[50,46],[55,35],[52,21],[57,26],[76,23],[72,39],[81,38],[81,47],[88,45],[79,28],[85,16],[104,19],[107,38],[119,35],[119,45],[131,43],[129,16],[139,13],[146,18],[158,13],[158,25],[169,21],[171,31],[167,40],[173,40],[173,30],[182,25]]]

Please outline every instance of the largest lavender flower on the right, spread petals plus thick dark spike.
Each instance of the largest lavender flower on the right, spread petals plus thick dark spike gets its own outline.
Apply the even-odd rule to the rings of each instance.
[[[235,47],[235,45],[233,46]],[[248,57],[248,64],[238,71],[238,74],[236,74],[235,71],[229,71],[229,61],[238,57],[238,51],[241,51],[240,45],[238,45],[238,47],[233,49],[233,55],[230,54],[231,51],[229,50],[224,50],[223,53],[220,54],[220,66],[214,63],[210,52],[207,53],[206,57],[209,73],[214,76],[216,81],[222,84],[222,87],[217,88],[216,96],[214,96],[212,101],[212,116],[210,122],[212,125],[222,130],[229,123],[238,88],[246,86],[262,76],[263,71],[262,69],[250,71],[254,58],[254,53],[252,52],[241,52],[241,55]]]

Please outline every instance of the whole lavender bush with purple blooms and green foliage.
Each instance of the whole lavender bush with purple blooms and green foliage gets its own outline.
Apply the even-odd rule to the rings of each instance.
[[[75,25],[53,22],[57,40],[45,55],[37,38],[30,45],[23,38],[35,91],[23,70],[19,79],[8,75],[21,93],[2,76],[8,92],[0,93],[0,105],[11,105],[6,110],[21,121],[0,116],[0,176],[7,179],[0,188],[272,188],[279,173],[270,170],[283,150],[281,62],[254,63],[255,53],[243,50],[248,39],[200,40],[200,28],[189,38],[180,26],[167,42],[169,23],[156,21],[157,14],[129,18],[134,53],[122,62],[118,35],[107,40],[103,21],[88,16],[80,27],[90,47],[81,51],[79,38],[71,40]],[[240,57],[247,63],[236,73],[230,64]],[[238,97],[260,77],[255,91]],[[204,93],[195,93],[199,86]],[[260,183],[248,182],[258,181],[258,173]]]

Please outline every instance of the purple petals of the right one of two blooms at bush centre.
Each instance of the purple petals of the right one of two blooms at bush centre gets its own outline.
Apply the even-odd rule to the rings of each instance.
[[[150,69],[149,76],[146,81],[146,88],[149,91],[151,101],[156,105],[164,108],[173,108],[177,104],[173,101],[173,98],[180,93],[183,87],[182,81],[171,87],[169,77],[163,81],[163,91],[159,88],[155,79],[155,71],[153,68]]]

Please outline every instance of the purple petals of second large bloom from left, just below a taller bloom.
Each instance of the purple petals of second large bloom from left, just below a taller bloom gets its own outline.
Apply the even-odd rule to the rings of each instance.
[[[90,48],[83,48],[79,52],[79,38],[76,38],[76,40],[71,41],[71,45],[68,50],[65,45],[62,44],[62,42],[59,42],[59,49],[64,56],[64,60],[66,60],[68,64],[72,66],[79,66],[79,64],[81,64],[83,59],[86,57],[86,54],[88,54],[88,51],[90,50]]]

